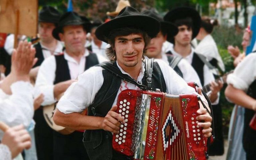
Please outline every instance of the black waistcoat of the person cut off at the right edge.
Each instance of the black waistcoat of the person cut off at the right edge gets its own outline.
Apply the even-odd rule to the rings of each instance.
[[[249,86],[247,94],[256,99],[256,80]],[[256,145],[256,130],[250,128],[249,123],[254,116],[255,111],[245,108],[244,113],[244,133],[243,133],[243,147],[248,153],[254,153]]]

